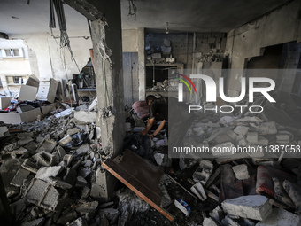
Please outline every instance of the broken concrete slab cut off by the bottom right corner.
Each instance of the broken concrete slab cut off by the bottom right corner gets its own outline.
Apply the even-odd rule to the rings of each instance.
[[[274,208],[272,214],[262,222],[258,222],[256,226],[297,226],[300,223],[300,216],[297,214],[292,214],[282,208]]]

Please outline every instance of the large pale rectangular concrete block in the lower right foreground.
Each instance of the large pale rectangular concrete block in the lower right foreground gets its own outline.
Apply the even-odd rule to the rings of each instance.
[[[221,207],[227,214],[237,215],[243,218],[263,221],[272,213],[272,207],[265,196],[249,195],[235,199],[227,199],[221,203]]]

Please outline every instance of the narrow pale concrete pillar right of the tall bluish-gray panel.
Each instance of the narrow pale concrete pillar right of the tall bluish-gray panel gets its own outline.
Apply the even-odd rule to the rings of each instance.
[[[138,66],[139,66],[139,100],[145,100],[145,37],[144,37],[144,28],[138,29]]]

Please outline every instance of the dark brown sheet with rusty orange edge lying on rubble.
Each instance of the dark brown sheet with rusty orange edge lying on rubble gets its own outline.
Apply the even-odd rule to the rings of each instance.
[[[103,166],[168,220],[174,220],[171,214],[160,207],[161,196],[158,184],[163,175],[160,168],[151,165],[148,161],[128,150],[124,152],[123,156],[106,160],[103,162]]]

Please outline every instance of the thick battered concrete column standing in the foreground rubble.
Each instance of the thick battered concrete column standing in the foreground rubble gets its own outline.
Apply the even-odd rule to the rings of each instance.
[[[122,152],[125,136],[120,1],[106,2],[97,8],[105,13],[104,19],[91,23],[99,124],[104,152],[114,157]],[[97,185],[101,197],[108,199],[116,179],[107,172],[102,174],[97,175],[102,178]]]

